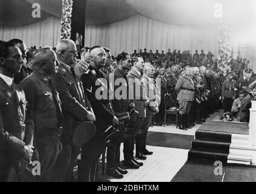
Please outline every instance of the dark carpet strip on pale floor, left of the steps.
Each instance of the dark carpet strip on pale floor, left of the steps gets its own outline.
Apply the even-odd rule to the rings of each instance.
[[[147,145],[190,150],[193,135],[147,132]]]

